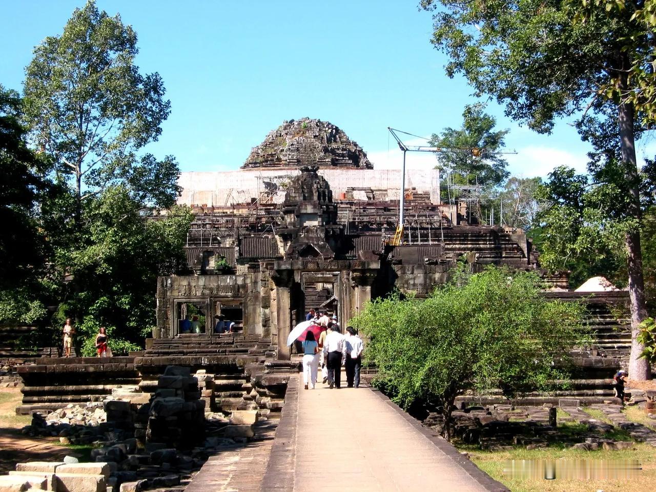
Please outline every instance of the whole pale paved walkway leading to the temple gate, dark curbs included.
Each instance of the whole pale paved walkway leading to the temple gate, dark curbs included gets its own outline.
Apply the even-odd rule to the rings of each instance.
[[[267,470],[263,491],[507,490],[379,392],[293,386],[270,459],[279,466]]]

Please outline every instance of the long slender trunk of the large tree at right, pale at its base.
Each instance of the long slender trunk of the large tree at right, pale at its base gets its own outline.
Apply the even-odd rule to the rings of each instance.
[[[626,72],[625,72],[626,73]],[[621,75],[621,90],[627,87],[626,75]],[[621,138],[622,163],[628,183],[630,205],[627,215],[640,221],[640,191],[636,165],[636,147],[634,142],[633,121],[635,111],[632,104],[619,105],[619,131]],[[628,270],[628,295],[631,308],[631,354],[628,363],[628,377],[634,380],[651,379],[651,367],[647,359],[641,358],[644,345],[638,342],[640,329],[638,325],[647,318],[645,298],[645,281],[642,272],[642,249],[640,247],[640,230],[633,228],[626,233],[626,266]]]

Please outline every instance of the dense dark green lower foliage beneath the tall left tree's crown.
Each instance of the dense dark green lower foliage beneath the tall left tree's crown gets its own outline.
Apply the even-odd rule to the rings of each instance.
[[[115,339],[138,343],[144,328],[154,325],[157,276],[184,267],[192,214],[174,207],[161,218],[144,216],[119,185],[86,202],[82,218],[79,242],[57,250],[56,264],[72,276],[63,287],[66,304],[58,321],[77,314],[84,333],[115,327]]]

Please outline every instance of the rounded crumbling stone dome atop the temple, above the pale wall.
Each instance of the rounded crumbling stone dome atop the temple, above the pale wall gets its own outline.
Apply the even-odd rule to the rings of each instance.
[[[242,169],[305,165],[373,169],[367,154],[346,133],[332,123],[310,118],[283,122],[253,147]]]

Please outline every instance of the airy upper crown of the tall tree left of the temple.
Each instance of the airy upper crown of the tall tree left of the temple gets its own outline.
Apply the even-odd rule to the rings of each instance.
[[[159,74],[142,75],[134,65],[136,41],[118,14],[91,0],[75,9],[62,35],[34,49],[26,68],[31,136],[72,176],[78,215],[84,197],[131,177],[134,153],[157,140],[170,113]]]

